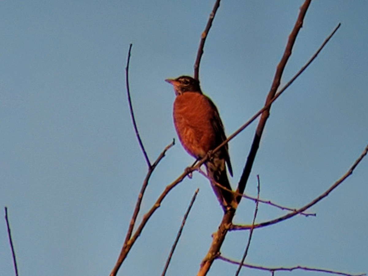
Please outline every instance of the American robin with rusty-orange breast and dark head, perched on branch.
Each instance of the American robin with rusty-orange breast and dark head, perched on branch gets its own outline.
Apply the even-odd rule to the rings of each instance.
[[[226,140],[219,112],[212,100],[202,93],[197,79],[181,76],[165,81],[174,86],[173,117],[180,142],[190,155],[202,159]],[[216,185],[231,190],[226,165],[233,176],[227,145],[213,153],[205,163],[213,191],[225,211],[236,208],[233,194]]]

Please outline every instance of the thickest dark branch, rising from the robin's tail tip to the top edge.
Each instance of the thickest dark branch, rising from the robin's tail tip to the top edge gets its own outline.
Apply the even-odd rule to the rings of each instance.
[[[309,7],[310,3],[311,3],[311,0],[305,0],[304,4],[300,8],[300,13],[299,13],[298,19],[297,19],[297,21],[294,25],[293,31],[291,31],[291,33],[289,35],[289,40],[287,42],[286,49],[284,51],[283,57],[282,57],[280,63],[277,65],[275,77],[273,79],[272,86],[271,86],[271,89],[268,93],[265,105],[267,105],[272,100],[272,98],[276,94],[277,88],[279,88],[282,73],[284,71],[284,68],[286,66],[287,61],[289,60],[289,57],[291,56],[291,50],[293,49],[295,39],[296,39],[296,37],[297,37],[297,35],[298,35],[302,25],[303,25],[303,20],[304,20],[305,14],[307,13],[307,10],[308,10],[308,7]],[[253,163],[254,163],[255,155],[256,155],[256,153],[258,151],[258,148],[259,148],[259,142],[261,141],[261,136],[262,136],[263,130],[265,128],[266,121],[269,117],[270,108],[271,108],[271,106],[262,113],[262,116],[259,120],[256,132],[255,132],[255,135],[254,135],[253,143],[252,143],[250,152],[248,154],[247,162],[245,163],[243,174],[241,175],[241,178],[240,178],[240,181],[239,181],[239,184],[238,184],[237,192],[239,192],[240,194],[244,193],[245,185],[247,184],[249,175],[251,173],[251,169],[252,169],[252,166],[253,166]],[[238,203],[240,202],[240,200],[241,200],[241,197],[237,197],[237,202]]]

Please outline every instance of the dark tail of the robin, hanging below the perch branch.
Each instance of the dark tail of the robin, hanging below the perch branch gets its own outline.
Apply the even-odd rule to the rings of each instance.
[[[227,178],[225,160],[213,158],[212,160],[206,162],[205,165],[213,191],[215,192],[216,197],[224,211],[228,210],[229,208],[236,209],[237,204],[234,194],[230,192],[232,189],[229,178]],[[224,190],[220,186],[230,191]]]

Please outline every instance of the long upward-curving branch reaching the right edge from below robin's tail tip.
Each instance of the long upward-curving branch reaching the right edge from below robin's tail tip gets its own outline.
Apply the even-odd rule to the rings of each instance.
[[[252,228],[261,228],[261,227],[265,227],[265,226],[269,226],[269,225],[278,223],[278,222],[286,220],[286,219],[290,219],[291,217],[293,217],[293,216],[295,216],[295,215],[297,215],[301,212],[304,212],[305,210],[307,210],[311,206],[315,205],[317,202],[321,201],[323,198],[327,197],[330,192],[335,190],[335,188],[337,186],[339,186],[344,180],[346,180],[346,178],[348,178],[351,174],[353,174],[353,171],[354,171],[355,167],[358,166],[358,164],[361,162],[361,160],[364,158],[364,156],[367,155],[367,152],[368,152],[368,145],[366,146],[366,148],[364,149],[362,154],[359,156],[359,158],[354,162],[353,166],[351,166],[350,169],[339,180],[337,180],[323,194],[321,194],[319,197],[315,198],[313,201],[309,202],[307,205],[303,206],[302,208],[300,208],[300,209],[298,209],[294,212],[288,213],[288,214],[286,214],[282,217],[278,217],[277,219],[269,220],[268,222],[262,222],[262,223],[259,223],[259,224],[255,224],[254,226],[232,225],[230,227],[230,230],[248,230],[248,229],[252,229]]]

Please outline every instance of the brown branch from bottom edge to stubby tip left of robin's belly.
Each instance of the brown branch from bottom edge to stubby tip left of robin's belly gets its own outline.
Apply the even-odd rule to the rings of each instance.
[[[128,231],[127,231],[127,236],[125,237],[123,248],[121,249],[119,258],[116,261],[116,264],[115,264],[112,272],[110,273],[110,276],[115,276],[116,275],[117,271],[119,270],[121,264],[123,263],[126,255],[128,254],[128,252],[129,252],[129,250],[132,246],[131,235],[132,235],[132,231],[133,231],[133,228],[134,228],[135,221],[137,220],[139,209],[141,208],[141,202],[142,202],[144,192],[145,192],[145,190],[147,188],[147,185],[148,185],[148,180],[151,177],[153,170],[156,168],[156,166],[161,161],[161,159],[165,156],[166,151],[168,149],[170,149],[174,144],[175,144],[175,141],[173,140],[173,142],[171,144],[167,145],[166,148],[164,148],[164,150],[160,153],[160,155],[156,159],[155,163],[153,163],[153,165],[148,168],[148,172],[147,172],[146,177],[145,177],[145,179],[143,181],[143,184],[142,184],[141,192],[138,195],[138,199],[137,199],[137,203],[135,205],[135,209],[134,209],[134,212],[133,212],[132,219],[130,220],[130,224],[129,224],[129,228],[128,228]],[[143,228],[143,226],[142,226],[142,228]],[[141,231],[142,231],[142,229],[141,229]],[[140,232],[139,232],[139,234],[140,234]],[[139,236],[139,234],[138,234],[138,236]],[[137,239],[137,237],[135,237],[134,241]],[[128,250],[127,250],[127,248],[128,248]]]

